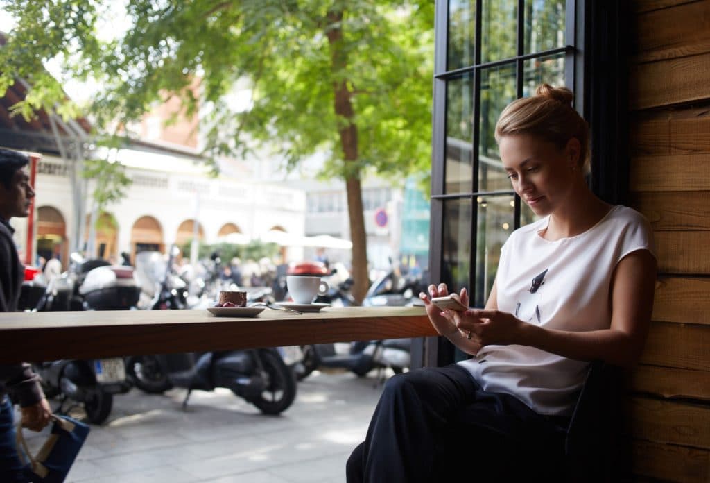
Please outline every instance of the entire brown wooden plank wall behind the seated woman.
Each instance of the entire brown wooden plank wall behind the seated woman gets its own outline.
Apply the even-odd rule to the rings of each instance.
[[[634,0],[630,204],[659,261],[633,374],[636,479],[710,482],[710,0]]]

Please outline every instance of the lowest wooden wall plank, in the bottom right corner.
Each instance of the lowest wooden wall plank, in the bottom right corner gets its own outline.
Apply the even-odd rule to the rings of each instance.
[[[710,481],[710,451],[694,447],[662,445],[651,441],[632,443],[633,472],[668,482]]]

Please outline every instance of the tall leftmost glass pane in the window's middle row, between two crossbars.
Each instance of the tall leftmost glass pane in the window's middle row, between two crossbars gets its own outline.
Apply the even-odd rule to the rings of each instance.
[[[446,168],[444,192],[471,192],[474,143],[474,78],[447,83]]]

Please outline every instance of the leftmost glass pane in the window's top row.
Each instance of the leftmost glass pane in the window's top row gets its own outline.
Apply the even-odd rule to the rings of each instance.
[[[476,0],[449,0],[447,70],[474,65]]]

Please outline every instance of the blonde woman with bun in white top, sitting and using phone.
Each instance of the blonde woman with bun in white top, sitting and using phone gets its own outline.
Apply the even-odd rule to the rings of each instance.
[[[348,461],[349,482],[554,469],[589,361],[631,367],[640,356],[655,288],[652,233],[638,212],[587,187],[589,128],[572,99],[541,85],[501,113],[503,168],[541,218],[506,241],[484,309],[439,310],[430,297],[447,295],[444,283],[420,294],[439,335],[472,357],[388,381]],[[467,307],[465,288],[459,298]]]

